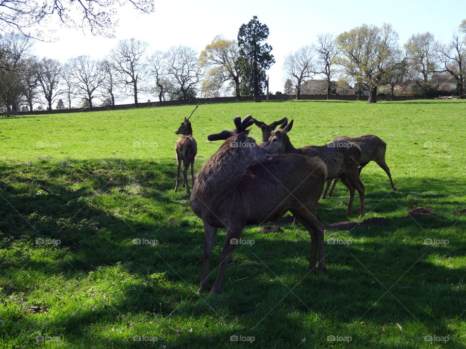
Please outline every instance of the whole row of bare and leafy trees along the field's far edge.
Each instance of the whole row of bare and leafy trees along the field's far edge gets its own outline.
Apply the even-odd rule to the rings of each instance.
[[[317,35],[314,45],[305,45],[286,55],[284,93],[300,98],[304,81],[316,77],[327,81],[327,98],[335,80],[355,86],[358,96],[369,92],[376,102],[381,87],[394,89],[411,84],[428,94],[430,80],[448,74],[464,93],[466,20],[442,44],[430,32],[417,33],[403,46],[390,24],[362,25],[338,35]],[[33,56],[33,38],[21,32],[0,34],[0,108],[7,113],[33,111],[35,106],[54,108],[114,106],[133,96],[164,100],[234,95],[261,100],[268,91],[267,69],[275,63],[266,43],[268,27],[257,16],[239,28],[237,38],[217,35],[200,53],[175,46],[166,52],[150,51],[135,38],[120,40],[102,60],[82,55],[65,63]]]

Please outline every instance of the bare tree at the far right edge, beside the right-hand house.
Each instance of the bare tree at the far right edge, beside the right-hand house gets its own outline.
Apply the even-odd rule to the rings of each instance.
[[[448,45],[439,48],[440,62],[443,65],[441,72],[448,72],[455,80],[459,95],[463,95],[466,75],[466,38],[453,34]]]

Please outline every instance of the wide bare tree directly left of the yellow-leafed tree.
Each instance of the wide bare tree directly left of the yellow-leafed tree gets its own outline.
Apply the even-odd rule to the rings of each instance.
[[[196,95],[197,84],[203,77],[197,52],[186,46],[172,47],[167,53],[168,73],[176,81],[177,99]]]

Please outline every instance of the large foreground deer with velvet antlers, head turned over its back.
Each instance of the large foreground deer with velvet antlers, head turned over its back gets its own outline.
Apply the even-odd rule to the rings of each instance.
[[[233,119],[236,129],[210,135],[225,140],[196,177],[190,197],[193,212],[204,224],[202,277],[199,293],[209,285],[209,268],[218,228],[226,229],[219,269],[210,294],[219,293],[225,268],[241,243],[243,228],[273,221],[291,211],[311,236],[309,270],[326,270],[324,225],[317,201],[327,177],[318,158],[299,154],[272,156],[249,137],[250,115]],[[318,254],[318,260],[316,261]],[[317,263],[317,268],[316,268]]]

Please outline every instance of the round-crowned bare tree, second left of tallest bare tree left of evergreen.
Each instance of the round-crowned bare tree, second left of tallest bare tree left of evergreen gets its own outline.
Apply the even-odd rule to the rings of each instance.
[[[83,96],[89,103],[89,108],[92,108],[92,100],[96,97],[102,97],[99,91],[103,83],[100,62],[87,55],[78,56],[70,60],[69,67],[73,83],[76,86],[76,95]]]

